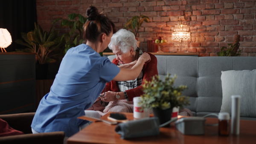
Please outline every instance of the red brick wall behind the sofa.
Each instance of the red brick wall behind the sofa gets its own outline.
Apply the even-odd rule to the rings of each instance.
[[[146,15],[150,23],[140,29],[140,48],[147,51],[147,40],[158,36],[169,45],[165,52],[176,52],[171,33],[178,19],[184,18],[190,26],[189,52],[200,56],[216,56],[222,46],[233,43],[234,35],[241,35],[241,56],[256,56],[256,1],[255,0],[37,0],[38,24],[49,30],[56,18],[67,18],[67,14],[84,16],[89,6],[104,11],[123,29],[128,19],[135,15]],[[66,29],[55,24],[60,32]]]

